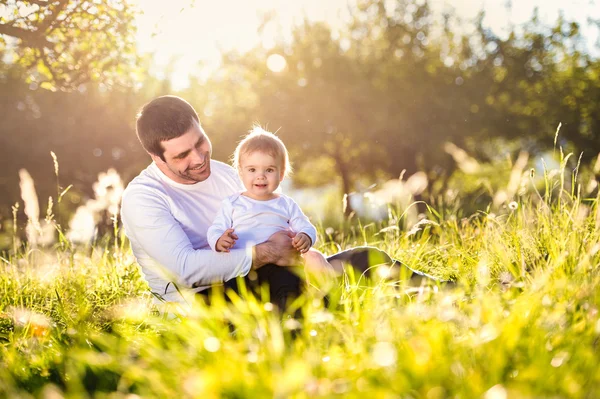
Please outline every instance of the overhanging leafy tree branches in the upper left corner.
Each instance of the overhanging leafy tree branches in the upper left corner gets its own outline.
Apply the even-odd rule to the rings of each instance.
[[[49,89],[128,83],[135,10],[126,0],[4,0],[0,53],[13,49],[26,81]]]

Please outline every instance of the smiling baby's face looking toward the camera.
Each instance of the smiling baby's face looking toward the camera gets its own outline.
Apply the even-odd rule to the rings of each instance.
[[[279,162],[271,155],[258,151],[240,157],[239,172],[248,196],[257,200],[275,198],[273,191],[283,179]]]

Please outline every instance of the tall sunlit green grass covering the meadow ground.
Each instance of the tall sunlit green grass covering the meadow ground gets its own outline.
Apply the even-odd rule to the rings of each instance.
[[[431,209],[410,234],[356,221],[321,231],[324,252],[376,245],[457,284],[349,275],[328,308],[302,298],[301,320],[247,297],[157,313],[110,237],[7,254],[0,396],[600,397],[597,198],[546,192],[560,195],[496,215]]]

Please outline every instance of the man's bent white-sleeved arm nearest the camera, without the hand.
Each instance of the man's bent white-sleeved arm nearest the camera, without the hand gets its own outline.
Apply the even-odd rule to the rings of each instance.
[[[169,278],[184,286],[223,282],[244,276],[250,270],[250,250],[233,250],[225,254],[194,249],[166,201],[156,193],[144,190],[126,193],[122,219],[142,267],[144,256],[150,257],[164,267]],[[136,246],[144,253],[135,253]]]

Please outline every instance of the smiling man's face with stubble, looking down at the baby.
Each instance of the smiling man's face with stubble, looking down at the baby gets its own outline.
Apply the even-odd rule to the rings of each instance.
[[[150,154],[158,168],[171,180],[181,184],[195,184],[210,176],[212,145],[208,136],[194,121],[182,136],[163,141],[164,161]]]

